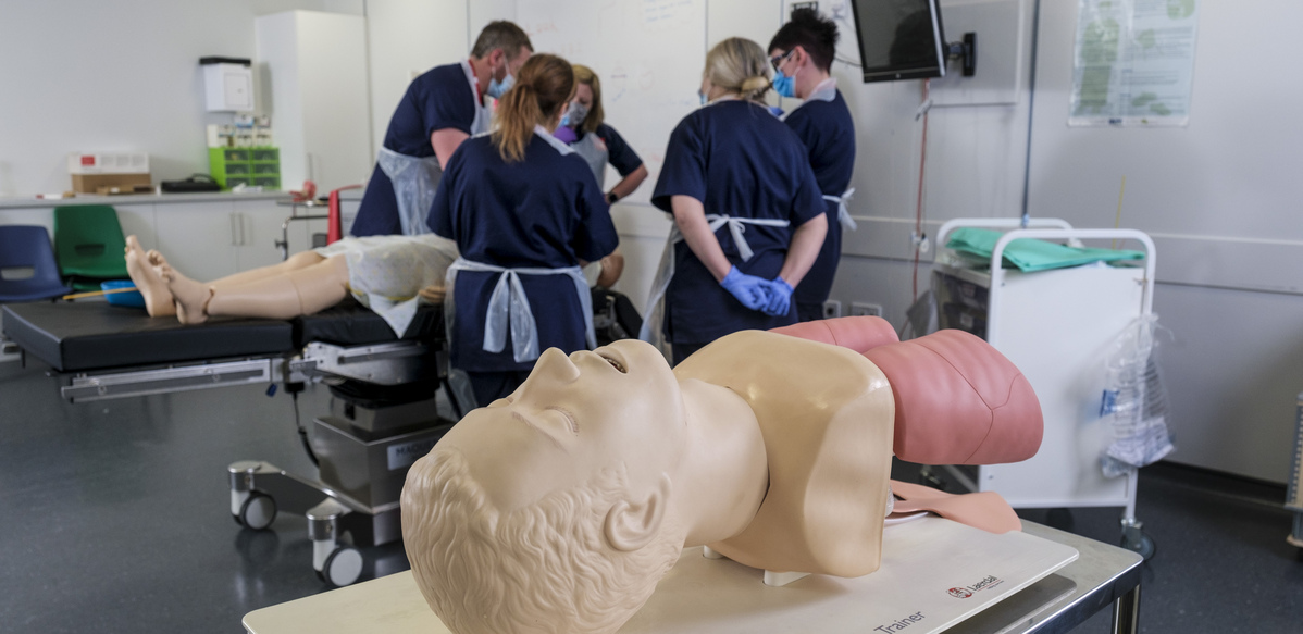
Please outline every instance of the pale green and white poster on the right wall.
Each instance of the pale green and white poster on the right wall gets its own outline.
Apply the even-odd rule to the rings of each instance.
[[[1197,0],[1080,0],[1071,126],[1184,126]]]

